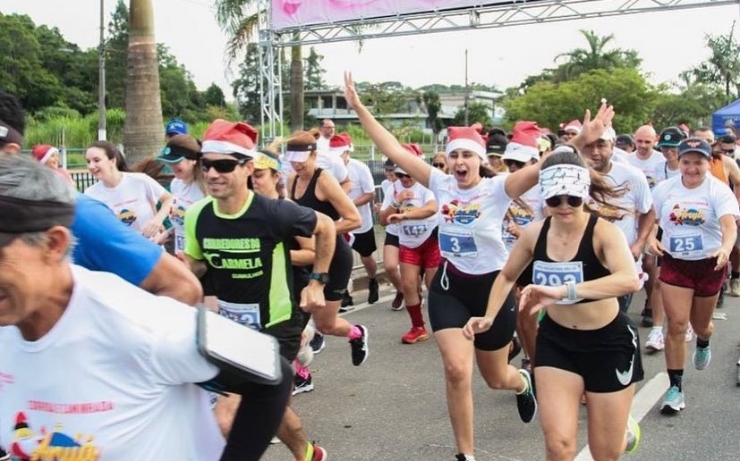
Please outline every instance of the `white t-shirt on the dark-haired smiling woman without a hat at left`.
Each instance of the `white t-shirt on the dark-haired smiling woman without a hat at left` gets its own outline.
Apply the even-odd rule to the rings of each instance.
[[[98,181],[85,190],[85,195],[108,205],[115,216],[134,231],[141,231],[156,214],[159,199],[167,191],[144,173],[123,172],[115,188],[106,188]]]

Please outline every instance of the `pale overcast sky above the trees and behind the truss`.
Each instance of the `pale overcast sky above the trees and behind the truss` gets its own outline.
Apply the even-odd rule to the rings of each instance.
[[[157,41],[169,46],[200,89],[211,82],[224,88],[233,75],[225,67],[225,34],[208,0],[153,0]],[[106,2],[106,23],[115,8]],[[38,24],[57,27],[67,40],[86,48],[97,46],[98,0],[0,0],[0,12],[24,13]],[[418,37],[366,40],[361,52],[353,42],[316,46],[325,59],[325,80],[340,85],[344,70],[355,80],[396,80],[418,88],[430,83],[464,84],[464,50],[468,49],[468,80],[515,86],[527,75],[552,67],[559,53],[586,42],[578,29],[614,34],[614,46],[634,49],[642,70],[653,82],[676,81],[679,72],[709,57],[705,34],[727,34],[740,19],[740,6],[708,6],[684,11],[642,13],[584,21],[562,21],[488,30],[444,32]],[[736,29],[740,29],[738,26]],[[738,32],[736,31],[736,37]],[[304,53],[308,55],[308,50]]]

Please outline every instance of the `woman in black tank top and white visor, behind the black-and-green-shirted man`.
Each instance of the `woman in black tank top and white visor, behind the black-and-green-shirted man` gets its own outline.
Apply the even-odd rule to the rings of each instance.
[[[336,178],[316,166],[316,155],[316,138],[308,131],[295,131],[287,140],[285,160],[293,167],[287,184],[290,199],[326,214],[336,225],[336,249],[324,287],[327,305],[311,314],[319,332],[346,336],[350,340],[353,365],[361,365],[368,356],[368,331],[364,326],[353,325],[336,315],[353,263],[352,250],[344,239],[344,233],[360,227],[360,213]]]

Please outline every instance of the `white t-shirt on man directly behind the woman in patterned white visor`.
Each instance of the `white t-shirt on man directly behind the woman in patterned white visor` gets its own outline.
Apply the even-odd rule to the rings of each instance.
[[[599,210],[604,219],[614,222],[632,245],[637,239],[637,215],[651,210],[652,197],[648,181],[640,170],[627,163],[612,162],[603,178],[610,186],[626,189],[622,197],[609,198],[609,205],[602,205],[589,198],[589,206]]]

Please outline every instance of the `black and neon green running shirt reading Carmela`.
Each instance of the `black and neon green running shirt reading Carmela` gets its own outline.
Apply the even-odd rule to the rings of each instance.
[[[313,235],[316,220],[310,208],[253,192],[236,214],[206,197],[185,214],[185,254],[207,264],[220,314],[269,328],[296,312],[289,242]]]

